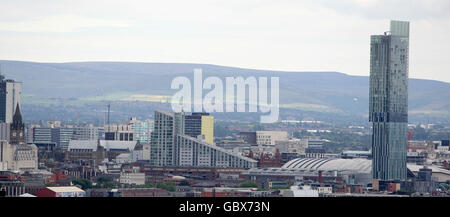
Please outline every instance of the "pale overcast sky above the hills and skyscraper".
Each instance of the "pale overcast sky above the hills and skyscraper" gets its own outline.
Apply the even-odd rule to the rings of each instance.
[[[0,59],[369,75],[391,19],[411,21],[410,77],[450,82],[449,0],[0,0]]]

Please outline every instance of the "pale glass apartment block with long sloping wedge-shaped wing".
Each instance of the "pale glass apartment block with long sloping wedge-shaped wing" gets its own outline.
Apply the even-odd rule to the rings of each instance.
[[[195,116],[195,118],[189,118]],[[154,129],[150,147],[153,166],[252,168],[253,159],[228,152],[207,142],[200,135],[201,128],[212,126],[202,121],[206,114],[185,115],[183,112],[155,112]],[[206,118],[213,120],[212,118]],[[199,121],[200,120],[200,121]],[[205,119],[203,119],[205,120]],[[198,125],[200,123],[200,126]],[[188,135],[186,132],[196,135]],[[203,131],[206,132],[206,131]],[[213,137],[213,136],[211,136]],[[211,141],[211,140],[210,140]]]

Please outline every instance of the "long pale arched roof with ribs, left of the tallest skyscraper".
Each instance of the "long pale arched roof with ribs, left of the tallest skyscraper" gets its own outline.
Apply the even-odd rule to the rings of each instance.
[[[287,162],[281,168],[312,171],[352,171],[358,173],[371,173],[372,161],[360,158],[297,158]]]

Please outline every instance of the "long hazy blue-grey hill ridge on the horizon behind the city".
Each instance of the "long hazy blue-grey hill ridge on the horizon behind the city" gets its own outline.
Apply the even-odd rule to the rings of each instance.
[[[170,89],[174,77],[193,77],[193,69],[202,68],[204,78],[278,76],[283,108],[361,116],[368,113],[369,78],[339,72],[283,72],[183,63],[0,60],[0,64],[7,78],[24,83],[23,104],[65,100],[77,103],[97,100],[162,101],[175,92]],[[450,83],[410,79],[409,109],[411,115],[449,118]]]

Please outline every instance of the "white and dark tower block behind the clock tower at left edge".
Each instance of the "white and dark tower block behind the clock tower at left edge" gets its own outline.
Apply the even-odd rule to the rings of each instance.
[[[22,82],[0,74],[0,122],[11,123],[17,106],[22,105]]]

